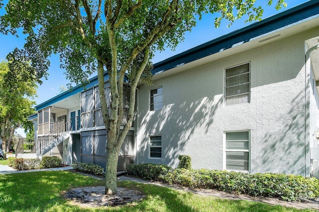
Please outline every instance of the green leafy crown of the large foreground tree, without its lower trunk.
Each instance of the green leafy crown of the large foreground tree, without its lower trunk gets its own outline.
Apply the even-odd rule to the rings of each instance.
[[[272,3],[268,0],[269,5]],[[245,14],[247,21],[260,20],[263,8],[254,4],[255,0],[9,0],[6,14],[0,17],[0,31],[16,34],[16,29],[21,27],[29,35],[25,45],[28,59],[36,62],[38,70],[40,64],[48,66],[44,58],[59,53],[67,77],[78,83],[85,81],[81,80],[83,73],[86,78],[96,71],[96,60],[103,61],[107,69],[112,63],[110,35],[106,29],[108,17],[115,33],[120,70],[134,60],[136,55],[132,60],[129,58],[136,48],[138,55],[150,47],[152,55],[165,45],[176,47],[184,33],[196,25],[196,15],[201,19],[202,14],[218,13],[216,27],[222,19],[231,25]],[[278,0],[276,8],[283,6],[286,6],[284,0]],[[47,67],[41,68],[47,71]],[[45,76],[43,72],[38,73]]]

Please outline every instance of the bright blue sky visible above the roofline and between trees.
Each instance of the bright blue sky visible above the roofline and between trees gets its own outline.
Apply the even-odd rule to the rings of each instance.
[[[271,6],[266,6],[267,0],[256,0],[256,4],[262,5],[264,8],[264,14],[262,18],[267,18],[271,15],[277,14],[289,8],[292,8],[296,5],[306,2],[307,0],[286,0],[287,7],[280,10],[276,10],[274,4]],[[6,4],[7,0],[3,0],[3,3]],[[274,3],[276,0],[274,0]],[[0,9],[0,15],[4,13],[4,8]],[[242,19],[236,20],[232,26],[227,27],[228,22],[222,21],[219,28],[214,27],[214,18],[215,15],[206,14],[203,16],[202,20],[197,22],[197,26],[192,29],[191,32],[185,34],[185,39],[181,42],[175,49],[171,51],[166,49],[163,52],[157,52],[153,63],[160,62],[166,58],[169,58],[173,55],[186,51],[192,47],[198,46],[202,43],[210,41],[214,38],[220,37],[222,35],[228,34],[234,30],[240,29],[244,26],[249,25],[250,23],[244,23],[245,17]],[[5,60],[6,55],[13,51],[15,47],[23,48],[25,36],[19,34],[19,37],[12,35],[2,35],[0,34],[0,61]],[[65,75],[64,70],[60,69],[59,57],[52,55],[50,58],[51,66],[49,68],[49,75],[47,80],[43,80],[43,83],[39,85],[37,89],[38,97],[35,99],[36,103],[42,103],[52,97],[54,97],[59,89],[60,85],[66,87],[66,84],[69,82]],[[23,134],[19,131],[20,134]]]

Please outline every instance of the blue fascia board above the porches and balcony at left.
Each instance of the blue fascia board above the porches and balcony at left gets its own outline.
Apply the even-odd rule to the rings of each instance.
[[[104,81],[109,81],[109,74],[107,72],[104,73]],[[98,84],[98,76],[96,75],[96,76],[89,79],[89,83],[86,84],[85,87],[82,84],[76,85],[63,93],[60,93],[59,95],[56,95],[53,98],[51,98],[51,99],[49,99],[41,104],[38,104],[37,106],[35,106],[35,110],[39,111],[43,108],[54,105],[56,102],[59,102],[67,97],[70,97],[70,96],[73,96],[77,93],[80,93],[80,92],[84,91],[85,89],[90,89],[90,88],[96,86],[97,84]]]

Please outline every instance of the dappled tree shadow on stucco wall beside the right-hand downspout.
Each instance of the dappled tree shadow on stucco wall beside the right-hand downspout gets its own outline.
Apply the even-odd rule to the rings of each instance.
[[[276,127],[279,129],[263,136],[262,172],[305,173],[304,93],[299,93],[290,105],[290,110],[277,120]],[[306,123],[308,120],[309,115]]]

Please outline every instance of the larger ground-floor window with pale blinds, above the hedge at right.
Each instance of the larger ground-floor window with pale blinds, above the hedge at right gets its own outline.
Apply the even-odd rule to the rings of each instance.
[[[226,169],[249,171],[249,132],[226,134]]]

